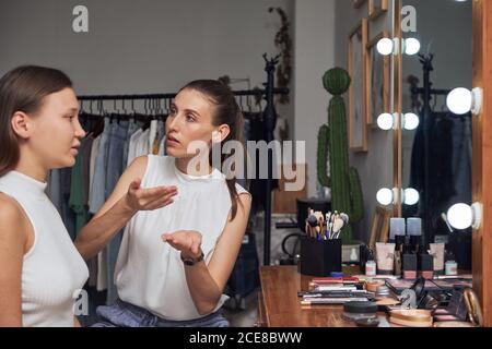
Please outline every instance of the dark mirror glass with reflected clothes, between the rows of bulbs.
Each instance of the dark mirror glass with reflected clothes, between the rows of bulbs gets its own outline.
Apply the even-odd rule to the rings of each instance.
[[[455,115],[446,97],[455,87],[471,89],[472,3],[403,0],[417,10],[419,56],[403,56],[403,113],[414,112],[415,130],[402,132],[402,183],[420,194],[402,206],[403,217],[421,217],[424,243],[447,242],[461,269],[471,268],[471,228],[454,229],[446,213],[471,204],[471,113]]]

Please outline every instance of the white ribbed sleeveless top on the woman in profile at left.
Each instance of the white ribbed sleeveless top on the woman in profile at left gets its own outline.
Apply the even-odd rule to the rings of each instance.
[[[16,171],[0,178],[0,192],[21,205],[34,229],[34,243],[22,265],[22,324],[72,327],[74,300],[89,270],[45,194],[46,185]]]

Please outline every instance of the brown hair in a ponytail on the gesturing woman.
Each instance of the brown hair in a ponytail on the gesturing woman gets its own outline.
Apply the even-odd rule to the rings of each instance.
[[[244,152],[244,140],[243,140],[244,117],[229,86],[216,80],[196,80],[186,84],[186,86],[184,86],[180,91],[187,88],[195,89],[203,94],[214,105],[215,108],[212,117],[212,124],[214,127],[219,127],[221,124],[229,125],[230,133],[221,142],[220,145],[222,146],[227,141],[238,141],[243,145],[242,148]],[[231,156],[233,155],[222,154],[221,152],[221,164],[224,164],[224,160]],[[211,156],[210,156],[210,165],[212,165]],[[231,173],[227,173],[225,181],[227,183],[229,194],[231,195],[232,202],[231,220],[232,220],[235,218],[237,213],[238,194],[236,191],[237,179],[235,176],[230,174]]]

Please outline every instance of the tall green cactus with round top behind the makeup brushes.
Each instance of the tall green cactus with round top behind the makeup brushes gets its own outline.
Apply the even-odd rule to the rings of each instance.
[[[319,129],[317,154],[319,183],[331,188],[331,210],[347,213],[350,217],[350,224],[341,234],[343,243],[352,242],[352,225],[364,217],[359,173],[349,167],[345,105],[341,96],[350,83],[349,73],[341,68],[331,69],[323,76],[325,89],[333,97],[328,107],[328,124]],[[328,153],[330,176],[327,172]]]

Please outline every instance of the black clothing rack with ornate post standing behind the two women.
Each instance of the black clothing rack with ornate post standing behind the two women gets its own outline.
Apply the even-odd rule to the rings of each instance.
[[[267,53],[263,53],[265,71],[267,72],[267,82],[263,83],[265,89],[245,89],[233,91],[234,96],[258,96],[265,98],[267,105],[262,111],[263,120],[266,124],[266,142],[273,141],[273,131],[277,125],[277,111],[274,108],[273,97],[276,95],[288,95],[290,89],[286,87],[276,88],[274,86],[274,72],[277,64],[279,63],[280,55],[274,58],[267,58]],[[78,96],[78,99],[83,103],[84,100],[160,100],[175,98],[177,93],[168,94],[142,94],[142,95],[91,95],[91,96]],[[268,152],[268,178],[266,182],[266,207],[265,207],[265,231],[263,231],[263,265],[270,265],[270,245],[271,245],[271,188],[272,188],[272,153]]]

